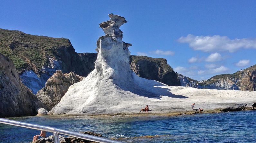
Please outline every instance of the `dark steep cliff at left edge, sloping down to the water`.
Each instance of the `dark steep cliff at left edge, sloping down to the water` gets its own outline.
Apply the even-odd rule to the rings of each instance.
[[[0,117],[36,115],[43,106],[23,84],[13,62],[0,54]]]

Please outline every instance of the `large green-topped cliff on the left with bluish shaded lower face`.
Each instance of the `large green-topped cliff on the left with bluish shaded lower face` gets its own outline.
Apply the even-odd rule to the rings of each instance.
[[[56,70],[73,71],[82,76],[91,72],[65,38],[34,36],[0,28],[0,53],[14,62],[22,82],[34,94]]]

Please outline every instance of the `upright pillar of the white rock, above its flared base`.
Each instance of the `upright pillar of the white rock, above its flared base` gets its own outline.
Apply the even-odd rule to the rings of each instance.
[[[125,18],[112,13],[109,14],[109,18],[110,20],[100,23],[105,36],[101,36],[97,41],[98,57],[95,69],[100,75],[103,74],[103,79],[113,78],[114,83],[119,83],[120,75],[131,75],[128,47],[132,44],[122,41],[123,32],[119,28],[127,22]]]

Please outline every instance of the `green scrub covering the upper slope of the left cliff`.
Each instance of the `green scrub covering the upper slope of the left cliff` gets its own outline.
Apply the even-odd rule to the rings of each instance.
[[[0,53],[9,57],[18,72],[33,69],[35,73],[48,66],[49,58],[60,48],[72,47],[69,39],[34,36],[16,30],[0,28]]]

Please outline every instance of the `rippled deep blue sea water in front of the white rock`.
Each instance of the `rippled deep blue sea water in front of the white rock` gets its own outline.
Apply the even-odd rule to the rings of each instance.
[[[130,143],[256,142],[255,110],[184,116],[29,116],[8,119],[71,131],[94,131],[105,138],[126,138],[121,141]],[[38,130],[0,123],[1,143],[31,142],[33,135],[39,133]],[[52,134],[47,132],[49,135]],[[145,135],[154,137],[140,137]]]

